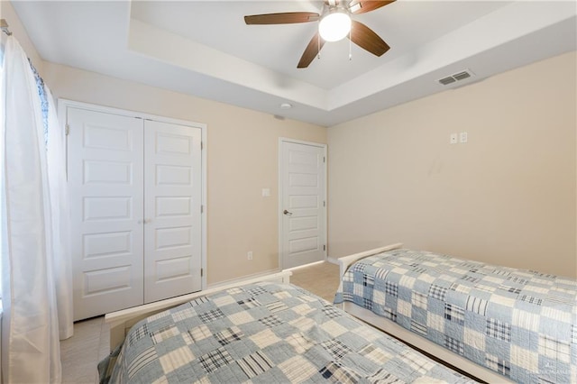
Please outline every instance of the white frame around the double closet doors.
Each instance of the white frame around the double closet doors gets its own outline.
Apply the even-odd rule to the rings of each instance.
[[[200,166],[200,173],[201,173],[201,182],[202,182],[202,188],[201,188],[201,202],[200,202],[200,209],[201,209],[201,214],[200,214],[200,218],[201,218],[201,244],[200,244],[200,259],[201,259],[201,266],[200,268],[202,269],[202,275],[201,275],[201,289],[204,290],[206,289],[206,247],[208,245],[208,236],[206,233],[206,217],[208,216],[207,214],[207,207],[206,207],[206,201],[207,201],[207,184],[206,184],[206,149],[208,148],[207,146],[207,127],[206,127],[206,123],[196,123],[196,122],[190,122],[187,120],[180,120],[180,119],[174,119],[172,117],[166,117],[166,116],[159,116],[157,114],[144,114],[142,112],[136,112],[136,111],[130,111],[130,110],[125,110],[125,109],[119,109],[119,108],[113,108],[110,106],[104,106],[104,105],[96,105],[96,104],[90,104],[90,103],[83,103],[83,102],[79,102],[79,101],[74,101],[74,100],[69,100],[69,99],[65,99],[65,98],[59,98],[58,99],[58,117],[59,117],[59,122],[60,124],[64,125],[62,128],[64,128],[62,130],[62,132],[64,132],[65,134],[68,135],[69,132],[69,128],[68,128],[68,123],[67,123],[67,110],[69,107],[74,107],[74,108],[78,108],[78,109],[86,109],[88,111],[94,111],[94,112],[102,112],[105,114],[120,114],[123,116],[129,116],[129,117],[134,117],[134,118],[140,118],[142,120],[153,120],[156,122],[160,122],[160,123],[173,123],[173,124],[178,124],[178,125],[185,125],[185,126],[189,126],[192,128],[199,128],[200,132],[201,132],[201,150],[200,150],[200,161],[201,161],[201,166]],[[67,153],[67,159],[66,159],[66,179],[68,182],[68,177],[69,177],[69,173],[68,173],[68,140],[65,141],[66,142],[66,153]]]

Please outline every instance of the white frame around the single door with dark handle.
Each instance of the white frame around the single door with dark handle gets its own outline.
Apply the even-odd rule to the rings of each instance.
[[[312,147],[317,147],[317,148],[322,148],[323,149],[323,156],[324,156],[324,164],[325,164],[325,180],[324,180],[324,184],[325,184],[325,188],[324,188],[324,195],[325,195],[325,209],[323,210],[323,217],[322,220],[325,223],[325,231],[323,233],[323,236],[325,238],[325,261],[327,260],[327,254],[328,254],[328,228],[327,228],[327,224],[328,224],[328,220],[327,220],[327,208],[328,208],[328,201],[327,201],[327,184],[326,184],[326,179],[327,179],[327,166],[328,166],[328,161],[326,159],[326,144],[321,143],[321,142],[306,142],[306,141],[302,141],[302,140],[297,140],[297,139],[290,139],[288,137],[279,137],[279,202],[278,202],[278,209],[277,209],[277,215],[278,215],[278,220],[279,220],[279,270],[282,270],[282,258],[283,258],[283,252],[282,252],[282,244],[284,242],[284,225],[283,225],[283,215],[282,212],[280,212],[282,210],[282,205],[283,205],[283,172],[284,172],[284,164],[282,161],[282,144],[284,142],[290,142],[290,143],[294,143],[294,144],[302,144],[302,145],[310,145]],[[298,268],[298,267],[297,267]]]

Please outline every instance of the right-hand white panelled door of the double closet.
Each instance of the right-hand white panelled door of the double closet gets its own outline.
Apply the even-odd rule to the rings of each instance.
[[[201,130],[144,123],[144,302],[201,289]]]

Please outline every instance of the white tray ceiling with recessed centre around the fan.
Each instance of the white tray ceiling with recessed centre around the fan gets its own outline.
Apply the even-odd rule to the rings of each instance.
[[[354,16],[387,53],[353,44],[349,60],[347,40],[329,42],[307,69],[297,63],[316,23],[245,25],[243,15],[319,13],[321,1],[13,5],[42,59],[325,126],[577,47],[572,0],[398,0]],[[475,76],[436,81],[463,69]]]

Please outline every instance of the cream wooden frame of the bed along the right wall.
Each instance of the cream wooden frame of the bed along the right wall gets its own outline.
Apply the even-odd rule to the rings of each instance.
[[[354,253],[350,256],[345,256],[343,258],[338,259],[339,261],[339,269],[341,272],[341,278],[343,278],[344,273],[348,268],[353,265],[355,261],[359,261],[366,257],[372,256],[374,254],[378,254],[384,251],[392,251],[399,249],[403,246],[402,243],[398,242],[396,244],[386,245],[384,247],[375,248],[370,251],[363,251],[360,253]],[[436,359],[444,361],[453,367],[458,368],[459,370],[463,370],[468,374],[474,376],[475,378],[481,379],[486,382],[507,382],[513,383],[504,376],[499,375],[488,368],[482,367],[481,365],[470,361],[469,359],[464,358],[454,352],[451,352],[444,347],[433,343],[427,340],[425,337],[422,337],[418,334],[415,334],[408,329],[398,325],[397,323],[389,320],[388,318],[381,317],[380,315],[376,315],[368,309],[363,308],[362,306],[357,306],[349,301],[343,302],[340,305],[346,312],[349,314],[357,317],[358,319],[362,320],[363,322],[370,324],[379,328],[381,331],[390,334],[391,336],[397,338],[403,343],[407,343],[410,346],[417,348],[422,352],[426,352]]]

